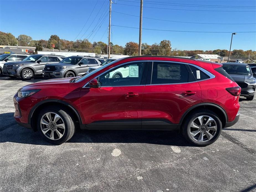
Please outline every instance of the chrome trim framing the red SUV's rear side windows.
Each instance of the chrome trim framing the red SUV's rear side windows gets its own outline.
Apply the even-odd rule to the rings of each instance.
[[[151,61],[150,61],[151,62]],[[191,63],[183,63],[183,62],[178,62],[178,61],[157,61],[157,60],[153,60],[152,61],[152,73],[151,73],[151,81],[150,81],[150,84],[146,84],[147,85],[177,85],[177,84],[185,84],[185,83],[195,83],[195,82],[200,82],[200,81],[205,81],[205,80],[208,80],[208,79],[203,79],[203,80],[198,80],[198,81],[190,81],[190,82],[183,82],[183,83],[163,83],[163,84],[152,84],[152,74],[153,74],[153,65],[154,65],[154,62],[164,62],[164,63],[178,63],[178,64],[186,64],[186,65],[191,65],[191,66],[194,66],[195,68],[201,70],[202,72],[204,72],[205,74],[207,74],[210,78],[208,79],[213,79],[215,78],[215,75],[213,75],[212,73],[210,73],[209,71],[195,65],[195,64],[191,64]]]

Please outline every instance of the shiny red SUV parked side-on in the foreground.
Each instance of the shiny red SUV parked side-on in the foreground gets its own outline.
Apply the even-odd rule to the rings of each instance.
[[[176,129],[206,146],[238,121],[240,92],[222,64],[136,56],[82,77],[22,87],[14,95],[14,118],[55,144],[68,141],[75,128]]]

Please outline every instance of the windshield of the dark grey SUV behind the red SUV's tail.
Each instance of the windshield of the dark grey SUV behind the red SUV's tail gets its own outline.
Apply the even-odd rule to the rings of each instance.
[[[223,65],[222,67],[228,74],[251,75],[251,69],[246,65]]]

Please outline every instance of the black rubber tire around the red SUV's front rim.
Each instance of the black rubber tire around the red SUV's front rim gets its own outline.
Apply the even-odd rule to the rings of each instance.
[[[42,116],[48,112],[56,113],[57,115],[59,115],[62,118],[62,120],[64,122],[65,130],[64,130],[63,136],[58,140],[52,140],[52,139],[46,137],[42,132],[42,129],[40,126],[40,120],[41,120]],[[45,109],[40,111],[40,113],[38,115],[38,119],[37,119],[37,129],[46,141],[53,143],[53,144],[62,144],[64,142],[68,141],[75,133],[74,120],[72,118],[72,115],[70,115],[70,112],[66,109],[62,109],[60,107],[54,107],[54,106],[46,107]]]

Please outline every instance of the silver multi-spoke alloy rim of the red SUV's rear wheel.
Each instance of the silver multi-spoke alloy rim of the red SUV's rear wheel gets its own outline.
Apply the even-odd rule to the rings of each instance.
[[[215,136],[216,131],[216,121],[207,115],[195,118],[189,126],[190,136],[198,142],[210,141]]]

